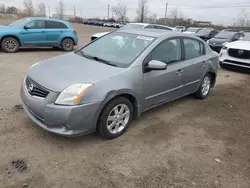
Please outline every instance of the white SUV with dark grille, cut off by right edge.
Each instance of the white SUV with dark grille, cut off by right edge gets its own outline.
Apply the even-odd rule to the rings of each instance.
[[[250,70],[250,32],[244,32],[244,38],[222,48],[220,66]]]

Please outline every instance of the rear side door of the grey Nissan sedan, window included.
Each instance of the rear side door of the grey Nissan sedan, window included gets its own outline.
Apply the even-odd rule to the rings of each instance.
[[[208,59],[203,42],[183,38],[184,58],[183,61],[183,95],[198,90],[200,82],[208,70]]]

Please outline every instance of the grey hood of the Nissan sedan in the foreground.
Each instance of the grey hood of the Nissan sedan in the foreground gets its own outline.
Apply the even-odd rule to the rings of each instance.
[[[69,53],[42,61],[31,67],[27,75],[39,85],[61,92],[75,83],[97,83],[124,70]]]

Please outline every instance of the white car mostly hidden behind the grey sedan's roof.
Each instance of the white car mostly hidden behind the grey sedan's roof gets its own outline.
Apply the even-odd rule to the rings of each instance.
[[[122,25],[123,26],[123,25]],[[130,28],[141,28],[141,29],[162,29],[162,30],[168,30],[173,31],[174,29],[168,26],[164,25],[157,25],[157,24],[147,24],[147,23],[128,23],[121,27],[122,29],[130,29]],[[91,40],[95,40],[97,38],[100,38],[109,32],[102,32],[102,33],[96,33],[92,35]]]

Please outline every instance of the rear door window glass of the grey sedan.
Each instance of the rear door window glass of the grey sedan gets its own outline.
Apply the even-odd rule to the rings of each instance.
[[[185,59],[194,59],[202,55],[200,42],[193,39],[183,39],[185,49]]]

